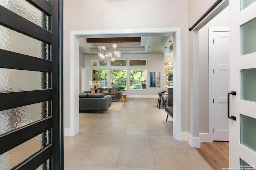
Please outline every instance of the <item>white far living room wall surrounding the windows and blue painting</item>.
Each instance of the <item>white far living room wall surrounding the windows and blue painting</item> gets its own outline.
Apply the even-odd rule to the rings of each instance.
[[[91,70],[108,70],[108,85],[110,84],[110,69],[125,69],[127,70],[127,82],[128,87],[123,93],[127,94],[127,97],[155,97],[158,98],[158,92],[164,90],[162,86],[164,86],[164,54],[122,54],[122,60],[127,60],[127,66],[109,66],[109,59],[108,66],[91,66],[91,60],[101,60],[98,55],[85,55],[85,67],[86,67],[86,89],[90,89],[90,83],[88,80],[91,80]],[[119,59],[119,60],[120,60]],[[147,66],[128,66],[130,59],[146,59]],[[129,90],[129,70],[130,69],[146,69],[147,70],[147,90]],[[161,72],[160,73],[160,80],[161,80],[161,87],[160,88],[150,88],[148,87],[149,84],[149,72]],[[108,87],[110,88],[110,87]]]

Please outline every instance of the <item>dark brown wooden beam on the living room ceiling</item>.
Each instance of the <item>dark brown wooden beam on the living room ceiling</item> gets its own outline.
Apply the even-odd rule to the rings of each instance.
[[[140,37],[87,38],[87,43],[140,43]]]

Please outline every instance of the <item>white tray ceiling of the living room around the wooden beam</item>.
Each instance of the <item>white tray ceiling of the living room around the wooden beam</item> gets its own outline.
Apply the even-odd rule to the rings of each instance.
[[[112,37],[112,36],[109,36],[109,37]],[[131,37],[131,35],[127,37]],[[147,36],[147,37],[141,37],[140,43],[116,43],[117,45],[116,51],[120,51],[121,56],[122,54],[164,54],[165,53],[164,47],[167,47],[166,60],[169,61],[170,60],[169,47],[170,47],[170,44],[172,43],[173,43],[173,35]],[[109,43],[87,43],[86,37],[80,36],[79,52],[84,55],[97,55],[100,52],[98,50],[99,45],[104,45],[106,46],[107,49],[109,47],[110,49],[112,49],[112,44],[113,43],[110,43],[110,44]],[[110,50],[107,50],[107,51],[110,52]]]

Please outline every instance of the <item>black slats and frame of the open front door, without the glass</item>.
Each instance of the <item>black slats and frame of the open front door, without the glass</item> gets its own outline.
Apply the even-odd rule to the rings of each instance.
[[[13,169],[36,169],[50,159],[50,169],[64,169],[63,161],[63,0],[27,0],[51,18],[51,30],[0,6],[0,24],[51,45],[51,60],[0,49],[0,68],[52,72],[52,88],[0,93],[0,111],[52,101],[52,113],[40,121],[0,135],[0,154],[50,130],[50,144]],[[4,146],[4,147],[3,147]]]

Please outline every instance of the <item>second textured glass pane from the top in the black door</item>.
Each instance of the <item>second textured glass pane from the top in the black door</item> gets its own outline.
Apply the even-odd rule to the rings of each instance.
[[[51,45],[0,25],[0,49],[50,60]]]

